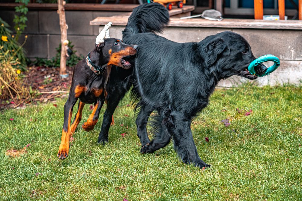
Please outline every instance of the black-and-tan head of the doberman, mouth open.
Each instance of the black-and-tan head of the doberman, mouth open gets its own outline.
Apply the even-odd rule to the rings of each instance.
[[[104,58],[108,58],[108,65],[129,69],[132,65],[127,57],[136,54],[137,45],[126,45],[120,39],[106,38],[103,43],[95,44],[95,48]]]

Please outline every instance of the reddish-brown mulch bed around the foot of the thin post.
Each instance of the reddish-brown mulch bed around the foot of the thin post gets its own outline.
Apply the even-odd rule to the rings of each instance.
[[[24,72],[24,85],[31,86],[34,95],[18,102],[11,99],[0,101],[0,110],[5,108],[18,108],[38,102],[52,102],[55,98],[68,96],[71,85],[73,68],[67,67],[68,78],[59,76],[59,68],[32,66]]]

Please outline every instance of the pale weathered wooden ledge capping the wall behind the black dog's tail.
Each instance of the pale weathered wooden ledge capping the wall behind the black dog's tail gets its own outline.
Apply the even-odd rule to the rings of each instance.
[[[125,26],[128,19],[125,17],[97,17],[90,21],[91,25],[105,25],[111,21],[115,26]],[[209,28],[247,28],[247,29],[281,29],[302,30],[302,21],[299,20],[252,20],[252,19],[224,19],[222,21],[191,18],[180,20],[170,18],[168,27],[209,27]]]

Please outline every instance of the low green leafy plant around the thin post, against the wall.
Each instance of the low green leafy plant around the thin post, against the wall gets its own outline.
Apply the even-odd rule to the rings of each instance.
[[[68,43],[69,49],[72,50],[74,45],[71,44],[69,41]],[[46,58],[36,58],[36,61],[34,61],[34,65],[36,66],[46,66],[46,67],[60,67],[60,58],[61,58],[61,43],[59,44],[59,47],[56,48],[56,56],[50,59]],[[84,58],[83,55],[77,56],[76,50],[72,50],[72,54],[67,58],[67,66],[75,66],[82,58]]]

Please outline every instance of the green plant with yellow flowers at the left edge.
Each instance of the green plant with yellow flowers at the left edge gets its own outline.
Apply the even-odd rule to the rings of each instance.
[[[25,36],[24,43],[20,45],[20,43],[16,40],[14,35],[11,35],[12,31],[8,29],[9,25],[2,20],[0,17],[0,46],[3,46],[3,48],[0,50],[2,55],[4,55],[5,52],[7,52],[6,59],[11,59],[11,57],[14,57],[13,60],[16,60],[18,62],[14,62],[12,64],[12,67],[14,68],[20,68],[21,70],[25,70],[27,67],[27,58],[25,57],[25,51],[22,48],[24,43],[27,40],[27,36]]]

